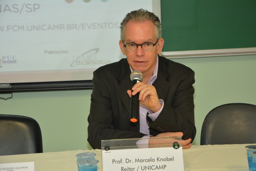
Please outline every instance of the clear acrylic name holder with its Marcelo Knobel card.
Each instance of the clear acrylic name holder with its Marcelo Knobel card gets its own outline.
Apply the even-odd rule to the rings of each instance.
[[[102,140],[104,171],[184,171],[181,137]]]

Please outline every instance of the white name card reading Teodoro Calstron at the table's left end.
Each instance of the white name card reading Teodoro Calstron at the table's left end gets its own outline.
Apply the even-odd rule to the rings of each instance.
[[[34,162],[0,164],[0,171],[34,171]]]

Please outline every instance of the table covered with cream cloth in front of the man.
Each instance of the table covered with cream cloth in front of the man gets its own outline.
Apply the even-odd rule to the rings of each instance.
[[[249,171],[245,146],[252,144],[192,145],[183,150],[185,171]],[[103,169],[101,150],[75,150],[0,156],[2,163],[35,162],[35,171],[77,171],[76,154],[96,153],[100,160],[98,171]]]

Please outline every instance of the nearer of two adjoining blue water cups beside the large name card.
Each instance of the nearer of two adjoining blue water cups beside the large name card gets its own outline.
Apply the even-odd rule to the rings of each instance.
[[[78,171],[97,171],[99,160],[82,159],[78,161]]]

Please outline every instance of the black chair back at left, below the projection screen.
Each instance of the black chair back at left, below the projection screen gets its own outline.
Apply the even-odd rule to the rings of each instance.
[[[42,134],[36,120],[0,114],[0,156],[41,152]]]

